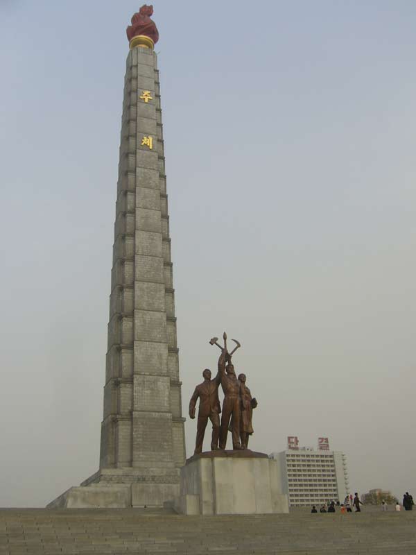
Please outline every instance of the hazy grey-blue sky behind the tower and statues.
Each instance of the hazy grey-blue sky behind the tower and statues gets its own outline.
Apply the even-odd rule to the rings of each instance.
[[[98,468],[140,5],[0,4],[0,506]],[[416,493],[416,3],[154,5],[184,413],[227,330],[254,450],[329,436],[353,491]]]

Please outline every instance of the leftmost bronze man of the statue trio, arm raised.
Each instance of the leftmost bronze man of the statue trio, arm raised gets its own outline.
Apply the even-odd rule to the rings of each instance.
[[[205,428],[207,427],[208,418],[212,424],[211,451],[218,449],[218,438],[220,435],[220,400],[218,398],[218,387],[220,385],[220,364],[225,361],[225,352],[221,353],[218,359],[218,373],[214,379],[211,379],[211,370],[206,368],[202,376],[204,381],[196,386],[195,391],[189,402],[189,416],[195,418],[196,402],[199,398],[198,424],[196,428],[196,445],[195,454],[202,452],[202,443],[204,442]]]

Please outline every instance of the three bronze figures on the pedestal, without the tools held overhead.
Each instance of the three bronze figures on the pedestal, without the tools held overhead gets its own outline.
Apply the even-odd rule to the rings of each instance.
[[[252,411],[257,400],[252,398],[250,389],[245,385],[245,374],[236,377],[231,355],[226,349],[218,359],[218,373],[211,379],[211,370],[206,368],[202,376],[204,382],[196,386],[189,402],[189,416],[195,418],[196,402],[199,398],[198,424],[196,430],[195,454],[202,452],[205,428],[208,418],[212,423],[211,450],[225,449],[228,432],[232,433],[232,448],[247,449],[248,439],[254,432]],[[218,387],[223,388],[224,400],[220,423],[220,400]]]

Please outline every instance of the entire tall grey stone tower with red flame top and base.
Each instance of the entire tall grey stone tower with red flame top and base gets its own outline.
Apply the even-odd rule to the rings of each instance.
[[[49,506],[162,506],[185,462],[157,55],[128,27],[100,469]]]

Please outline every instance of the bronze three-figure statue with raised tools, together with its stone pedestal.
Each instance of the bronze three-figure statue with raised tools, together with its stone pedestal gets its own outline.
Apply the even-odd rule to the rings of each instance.
[[[237,379],[232,355],[241,347],[227,350],[213,337],[209,343],[221,350],[218,373],[211,379],[211,370],[203,371],[204,382],[196,386],[189,402],[189,416],[195,418],[199,399],[195,452],[181,468],[180,497],[174,508],[186,515],[226,515],[288,513],[288,496],[282,492],[279,463],[265,453],[248,449],[248,439],[254,432],[252,410],[257,400],[245,385],[245,374]],[[224,393],[221,412],[218,387]],[[211,451],[202,452],[208,419],[212,423]],[[232,450],[226,451],[228,431],[232,433]],[[218,448],[219,440],[219,448]]]

